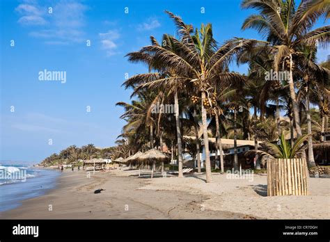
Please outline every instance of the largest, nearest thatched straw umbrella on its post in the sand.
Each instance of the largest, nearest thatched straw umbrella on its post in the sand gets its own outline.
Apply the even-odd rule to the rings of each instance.
[[[140,165],[143,164],[152,164],[152,169],[151,169],[151,178],[153,177],[153,172],[155,169],[155,164],[156,163],[169,163],[170,159],[169,157],[164,154],[163,152],[156,150],[156,149],[151,149],[148,150],[147,152],[141,154],[137,159],[137,162],[140,163]]]

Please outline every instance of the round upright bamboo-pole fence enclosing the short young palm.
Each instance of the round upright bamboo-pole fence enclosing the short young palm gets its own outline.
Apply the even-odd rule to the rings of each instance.
[[[267,161],[267,195],[308,195],[306,159]]]

